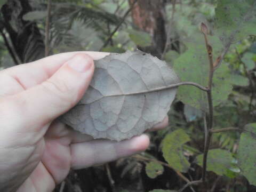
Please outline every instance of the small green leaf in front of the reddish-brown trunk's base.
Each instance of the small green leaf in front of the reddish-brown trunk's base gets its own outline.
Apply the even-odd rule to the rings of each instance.
[[[151,45],[151,37],[148,33],[134,29],[127,30],[130,39],[139,46],[146,47]]]

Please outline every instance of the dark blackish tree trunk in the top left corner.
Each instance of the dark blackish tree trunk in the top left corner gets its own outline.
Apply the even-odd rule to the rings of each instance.
[[[9,34],[12,50],[22,63],[44,57],[44,41],[36,22],[23,20],[23,15],[32,11],[28,0],[9,0],[2,9],[1,24]],[[1,29],[2,35],[4,35]],[[8,42],[5,41],[6,44]],[[8,45],[6,45],[8,46]],[[18,63],[17,63],[18,64]]]

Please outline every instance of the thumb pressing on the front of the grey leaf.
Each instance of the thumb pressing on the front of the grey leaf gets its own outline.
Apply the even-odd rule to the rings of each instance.
[[[89,86],[93,72],[93,59],[78,53],[45,82],[14,95],[14,106],[21,111],[23,123],[45,125],[75,106]]]

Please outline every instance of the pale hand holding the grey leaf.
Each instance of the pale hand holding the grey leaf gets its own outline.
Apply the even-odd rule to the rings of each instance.
[[[62,53],[0,71],[0,191],[52,191],[70,168],[148,147],[146,135],[121,142],[93,140],[54,121],[81,99],[93,76],[93,60],[107,54]]]

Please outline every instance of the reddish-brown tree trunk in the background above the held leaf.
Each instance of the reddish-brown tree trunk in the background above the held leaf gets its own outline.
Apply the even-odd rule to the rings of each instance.
[[[130,5],[134,1],[129,0]],[[132,10],[134,25],[149,33],[153,38],[152,46],[140,47],[140,49],[158,58],[162,58],[166,44],[165,18],[164,0],[138,0]]]

